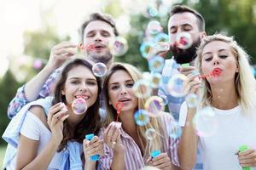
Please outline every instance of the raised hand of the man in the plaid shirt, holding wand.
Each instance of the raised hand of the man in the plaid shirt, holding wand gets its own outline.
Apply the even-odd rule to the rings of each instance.
[[[49,61],[45,67],[55,70],[60,67],[67,59],[76,54],[77,45],[72,42],[61,42],[51,48]]]

